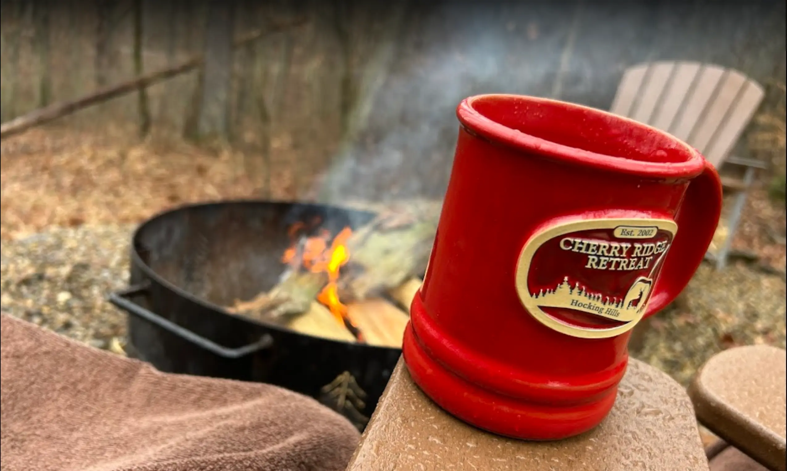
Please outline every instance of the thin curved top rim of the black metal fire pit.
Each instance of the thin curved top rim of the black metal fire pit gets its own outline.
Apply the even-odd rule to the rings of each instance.
[[[357,213],[357,214],[368,214],[371,217],[373,217],[375,215],[375,213],[373,211],[369,211],[369,210],[359,210],[359,209],[356,209],[356,208],[350,208],[350,207],[345,207],[345,206],[338,206],[338,205],[334,205],[334,204],[304,202],[304,201],[286,200],[286,199],[220,199],[220,200],[203,201],[203,202],[199,202],[199,203],[186,203],[186,204],[182,204],[182,205],[179,205],[179,206],[172,206],[172,207],[170,207],[168,209],[165,209],[165,210],[161,210],[158,213],[153,214],[152,217],[149,217],[148,219],[146,219],[146,221],[143,221],[142,223],[140,223],[135,228],[134,232],[131,234],[131,262],[134,263],[134,264],[137,264],[139,269],[142,270],[142,272],[144,272],[145,276],[149,277],[150,280],[152,280],[155,283],[159,283],[162,287],[165,287],[168,290],[172,290],[174,293],[176,293],[179,296],[187,299],[188,301],[194,302],[197,305],[201,305],[202,307],[204,307],[206,309],[213,309],[213,310],[215,310],[217,312],[221,312],[222,314],[227,315],[227,316],[238,317],[237,314],[229,312],[224,306],[216,305],[216,304],[214,304],[214,303],[212,303],[210,301],[207,301],[207,300],[205,300],[203,298],[195,296],[194,294],[191,294],[189,291],[183,290],[183,288],[178,287],[176,284],[169,282],[167,279],[164,279],[163,276],[161,276],[157,272],[155,272],[155,270],[153,270],[153,268],[150,268],[150,266],[147,265],[145,263],[145,261],[142,260],[142,257],[139,256],[139,250],[137,250],[137,248],[136,248],[136,241],[138,240],[140,234],[142,233],[142,231],[146,227],[149,227],[150,225],[154,224],[155,221],[161,220],[162,218],[168,217],[170,214],[173,214],[173,213],[176,213],[176,212],[179,212],[179,211],[194,210],[194,209],[197,209],[197,208],[209,207],[209,206],[227,206],[227,205],[238,205],[238,204],[241,204],[241,205],[249,204],[249,205],[251,205],[251,204],[260,204],[260,203],[272,204],[272,205],[277,205],[277,206],[278,205],[313,206],[313,207],[316,207],[316,208],[319,207],[319,208],[323,208],[323,209],[331,209],[331,210],[339,210],[339,211],[353,211],[354,213]],[[159,316],[157,313],[154,313],[154,314]],[[400,350],[401,351],[401,348],[396,349],[396,348],[386,347],[386,346],[382,346],[382,345],[358,344],[357,342],[337,340],[337,339],[334,339],[334,338],[317,337],[316,335],[304,334],[302,332],[298,332],[297,330],[291,329],[290,327],[281,326],[281,325],[278,325],[278,324],[275,324],[275,323],[269,323],[269,322],[266,322],[266,321],[263,321],[263,320],[260,320],[260,319],[253,319],[252,317],[246,317],[246,316],[241,316],[241,317],[243,318],[243,320],[246,320],[246,321],[251,322],[251,323],[255,323],[255,324],[257,324],[260,327],[264,327],[264,328],[271,329],[271,330],[277,330],[279,332],[283,332],[283,333],[286,333],[286,334],[298,334],[298,335],[303,335],[303,336],[309,337],[309,338],[316,338],[316,339],[318,339],[320,341],[335,342],[335,343],[343,344],[343,345],[364,345],[364,347],[371,348],[371,349]]]

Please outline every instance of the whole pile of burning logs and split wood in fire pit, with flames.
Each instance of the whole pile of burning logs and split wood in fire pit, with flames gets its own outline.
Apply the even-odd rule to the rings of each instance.
[[[436,202],[384,206],[368,225],[333,237],[307,236],[297,223],[289,228],[293,242],[279,283],[228,309],[303,334],[400,347],[439,214]]]

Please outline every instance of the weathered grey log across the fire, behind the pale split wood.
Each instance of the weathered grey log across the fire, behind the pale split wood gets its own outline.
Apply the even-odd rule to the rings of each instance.
[[[349,228],[342,231],[330,250],[328,235],[309,238],[305,244],[298,239],[283,259],[290,269],[282,281],[252,301],[236,302],[230,311],[286,324],[308,312],[312,301],[321,294],[324,299],[320,301],[329,305],[327,298],[334,298],[334,304],[339,298],[363,301],[397,289],[413,276],[423,275],[439,214],[439,203],[389,207],[356,232],[349,232]],[[342,251],[338,257],[341,261],[335,260],[336,266],[331,270],[328,265],[337,250]],[[306,271],[297,266],[299,261]],[[340,266],[344,267],[341,277]],[[331,272],[336,279],[331,280]],[[326,291],[329,282],[333,286]]]

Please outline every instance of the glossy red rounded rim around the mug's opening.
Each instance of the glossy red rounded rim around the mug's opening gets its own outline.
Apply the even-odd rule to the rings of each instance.
[[[563,108],[582,110],[595,115],[603,115],[609,119],[623,122],[627,126],[635,126],[652,133],[660,134],[661,137],[685,149],[687,159],[682,162],[653,162],[645,160],[628,159],[616,155],[600,154],[598,152],[587,151],[582,148],[573,147],[567,144],[559,144],[549,141],[532,134],[515,130],[505,126],[500,122],[488,118],[473,107],[478,100],[501,99],[509,101],[525,101],[527,103],[538,103],[548,105],[559,105]],[[656,178],[686,178],[694,177],[703,172],[705,159],[695,148],[686,144],[684,141],[674,137],[670,133],[659,130],[653,126],[634,121],[625,116],[615,115],[609,111],[592,108],[582,104],[575,104],[551,98],[530,97],[527,95],[515,95],[509,93],[487,93],[467,97],[462,100],[456,108],[456,116],[460,123],[473,133],[479,134],[494,143],[504,144],[519,151],[533,152],[545,157],[560,160],[563,162],[578,163],[583,166],[590,166],[600,170],[618,171],[623,173],[634,173],[645,177]]]

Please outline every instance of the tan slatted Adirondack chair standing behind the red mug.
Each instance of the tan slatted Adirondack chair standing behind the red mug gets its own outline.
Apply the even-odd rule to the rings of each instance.
[[[717,254],[708,254],[718,269],[726,264],[755,172],[767,168],[758,160],[730,157],[764,94],[762,86],[739,71],[713,64],[662,61],[626,69],[610,109],[682,139],[717,170],[725,162],[745,167],[741,179],[722,177],[725,189],[736,196],[727,218],[726,239]]]

